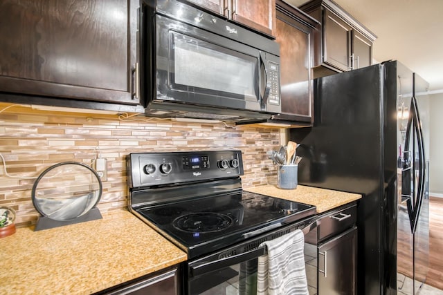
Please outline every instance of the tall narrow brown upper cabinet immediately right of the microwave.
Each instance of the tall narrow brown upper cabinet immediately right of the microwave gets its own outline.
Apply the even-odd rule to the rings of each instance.
[[[275,5],[282,113],[274,119],[311,125],[314,122],[313,42],[320,23],[284,1],[277,0]]]

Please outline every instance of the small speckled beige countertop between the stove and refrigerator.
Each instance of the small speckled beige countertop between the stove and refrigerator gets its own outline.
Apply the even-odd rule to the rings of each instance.
[[[275,187],[275,185],[267,184],[260,187],[246,188],[244,190],[275,198],[311,204],[317,207],[317,213],[334,209],[361,198],[361,195],[358,193],[344,193],[343,191],[318,189],[304,185],[298,185],[296,189],[279,189]]]

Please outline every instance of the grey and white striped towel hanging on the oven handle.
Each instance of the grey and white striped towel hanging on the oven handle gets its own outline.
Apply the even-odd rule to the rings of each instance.
[[[300,229],[262,242],[267,255],[258,258],[257,295],[305,295],[307,278],[305,270],[305,236]]]

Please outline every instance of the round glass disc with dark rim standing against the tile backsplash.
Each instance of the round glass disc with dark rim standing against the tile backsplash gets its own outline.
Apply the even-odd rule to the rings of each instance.
[[[62,222],[51,227],[64,225],[63,222],[76,223],[70,221],[86,216],[101,196],[100,177],[91,167],[80,162],[50,166],[35,180],[32,191],[35,209],[44,218]],[[87,220],[78,222],[81,221]]]

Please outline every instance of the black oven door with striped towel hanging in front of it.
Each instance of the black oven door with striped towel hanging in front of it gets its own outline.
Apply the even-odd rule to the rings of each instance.
[[[307,225],[297,223],[252,238],[240,245],[224,249],[210,256],[187,263],[187,293],[194,294],[257,294],[257,260],[266,254],[264,247],[258,247],[265,240],[278,238],[293,230],[303,228],[305,234],[305,265],[308,285],[316,288],[316,228],[318,220]],[[308,238],[310,237],[310,238]],[[314,249],[315,255],[310,249]]]

